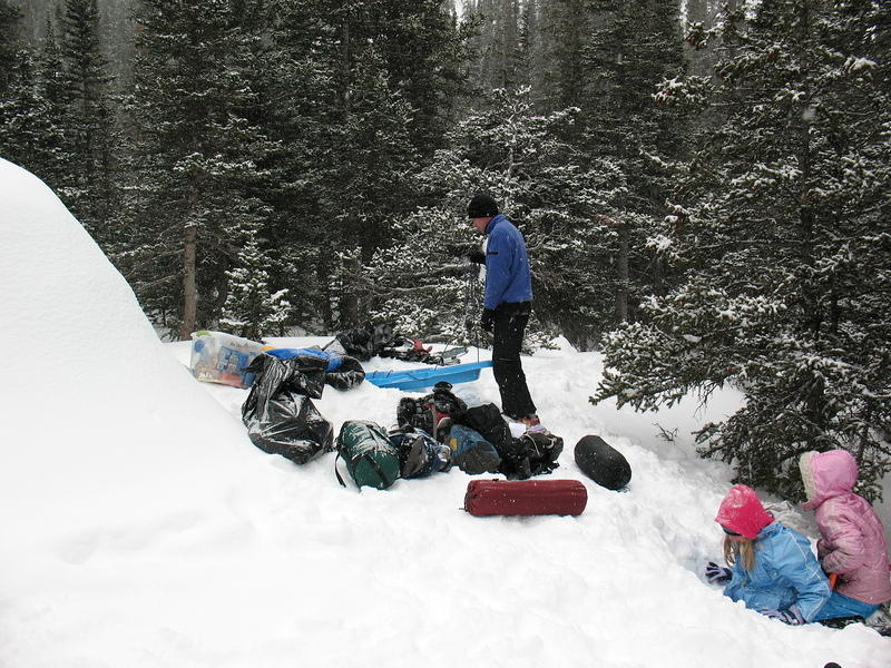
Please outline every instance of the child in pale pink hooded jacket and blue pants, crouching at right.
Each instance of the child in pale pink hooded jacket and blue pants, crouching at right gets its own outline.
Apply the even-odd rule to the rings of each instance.
[[[799,461],[807,502],[822,538],[816,553],[823,570],[839,579],[815,620],[866,618],[891,600],[884,529],[869,501],[852,490],[856,461],[845,450],[805,452]]]

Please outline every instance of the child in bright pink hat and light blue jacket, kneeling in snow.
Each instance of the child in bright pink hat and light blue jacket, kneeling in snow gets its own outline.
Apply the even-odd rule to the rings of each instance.
[[[754,490],[734,485],[717,511],[728,568],[709,561],[709,582],[724,595],[790,625],[814,621],[830,597],[829,580],[801,533],[775,522]]]

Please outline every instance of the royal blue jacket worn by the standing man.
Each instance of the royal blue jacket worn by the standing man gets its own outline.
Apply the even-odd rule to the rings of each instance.
[[[505,302],[531,302],[532,277],[522,234],[503,214],[486,226],[486,297],[483,306]]]

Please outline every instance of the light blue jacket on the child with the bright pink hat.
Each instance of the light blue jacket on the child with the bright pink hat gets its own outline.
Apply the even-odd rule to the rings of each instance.
[[[779,522],[758,533],[752,572],[737,561],[731,573],[725,596],[758,612],[797,606],[804,620],[811,621],[831,595],[826,574],[807,539]]]

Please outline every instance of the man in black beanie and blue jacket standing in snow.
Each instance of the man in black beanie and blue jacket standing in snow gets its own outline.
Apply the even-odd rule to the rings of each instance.
[[[486,295],[480,324],[492,333],[492,373],[506,415],[538,424],[520,362],[520,346],[532,313],[532,279],[522,234],[498,210],[489,195],[477,195],[467,207],[486,245]]]

